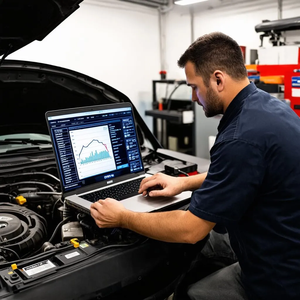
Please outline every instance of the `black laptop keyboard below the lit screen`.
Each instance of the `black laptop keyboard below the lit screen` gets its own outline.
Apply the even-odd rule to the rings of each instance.
[[[99,199],[106,198],[113,198],[119,201],[124,200],[139,194],[138,191],[140,189],[140,184],[144,178],[146,177],[117,184],[112,187],[107,187],[103,190],[97,190],[92,193],[81,195],[79,197],[90,202],[96,202]]]

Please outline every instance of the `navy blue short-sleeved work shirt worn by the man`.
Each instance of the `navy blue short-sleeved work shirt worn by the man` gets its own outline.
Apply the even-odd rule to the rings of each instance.
[[[249,299],[300,299],[300,118],[250,83],[226,109],[190,211],[226,227]]]

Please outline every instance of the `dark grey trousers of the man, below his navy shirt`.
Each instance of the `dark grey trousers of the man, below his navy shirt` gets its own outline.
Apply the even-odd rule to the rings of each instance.
[[[192,300],[247,300],[241,268],[230,247],[228,234],[213,230],[191,266],[194,279],[187,295]],[[191,282],[190,282],[191,283]]]

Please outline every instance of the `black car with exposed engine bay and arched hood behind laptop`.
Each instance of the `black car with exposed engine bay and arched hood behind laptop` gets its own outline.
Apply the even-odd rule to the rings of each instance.
[[[5,112],[26,116],[3,113],[0,120],[0,299],[140,300],[172,294],[205,240],[165,243],[126,229],[100,229],[90,215],[68,206],[45,122],[48,110],[130,100],[84,74],[41,63],[4,61],[0,85],[10,100]],[[161,149],[134,106],[133,112],[146,173],[165,170],[163,161],[195,163],[195,157]]]

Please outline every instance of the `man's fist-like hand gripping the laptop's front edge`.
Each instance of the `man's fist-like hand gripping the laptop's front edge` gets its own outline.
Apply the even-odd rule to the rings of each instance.
[[[91,216],[100,228],[121,227],[125,211],[121,202],[111,198],[91,204]]]

